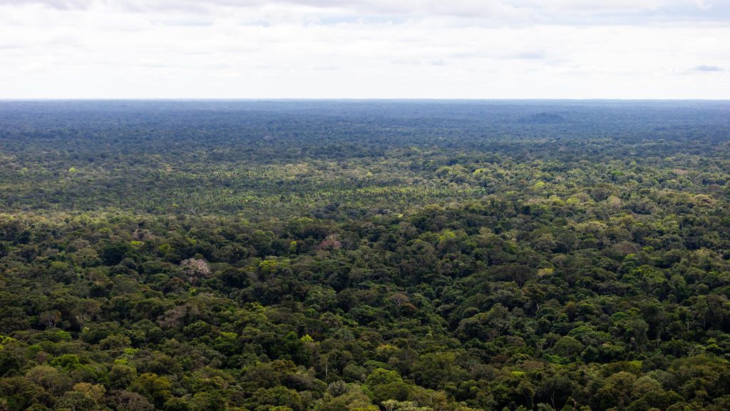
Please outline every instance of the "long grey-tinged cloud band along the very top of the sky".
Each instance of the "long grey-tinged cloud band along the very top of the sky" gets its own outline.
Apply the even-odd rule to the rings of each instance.
[[[0,0],[0,5],[39,4],[55,10],[114,10],[216,14],[228,10],[299,8],[328,18],[453,17],[510,24],[591,24],[631,21],[730,20],[718,0]]]

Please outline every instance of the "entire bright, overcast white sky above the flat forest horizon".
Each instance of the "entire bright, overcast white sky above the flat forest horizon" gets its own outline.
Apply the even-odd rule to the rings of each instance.
[[[730,99],[730,0],[0,0],[0,99]]]

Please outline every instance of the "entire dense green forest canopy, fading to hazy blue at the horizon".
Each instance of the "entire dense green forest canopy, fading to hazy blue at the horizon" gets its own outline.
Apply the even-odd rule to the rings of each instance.
[[[0,411],[730,410],[730,102],[0,102]]]

